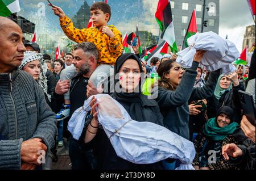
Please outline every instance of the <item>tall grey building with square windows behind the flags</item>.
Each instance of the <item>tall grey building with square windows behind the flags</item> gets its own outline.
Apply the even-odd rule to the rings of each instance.
[[[175,39],[177,45],[182,45],[185,33],[187,32],[192,11],[196,10],[197,32],[201,32],[203,24],[204,0],[172,0],[172,19],[174,20]],[[213,31],[218,34],[220,0],[205,0],[204,20],[208,21],[203,32]]]

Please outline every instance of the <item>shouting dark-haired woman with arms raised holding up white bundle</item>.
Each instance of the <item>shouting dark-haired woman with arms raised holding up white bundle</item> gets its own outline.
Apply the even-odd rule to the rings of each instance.
[[[193,88],[197,76],[196,69],[204,53],[204,50],[197,50],[192,67],[185,71],[173,60],[164,61],[158,68],[160,81],[156,101],[164,117],[164,125],[187,140],[189,140],[188,103],[212,96],[220,74],[220,70],[213,71],[203,87]],[[168,163],[173,162],[175,160],[168,161]]]

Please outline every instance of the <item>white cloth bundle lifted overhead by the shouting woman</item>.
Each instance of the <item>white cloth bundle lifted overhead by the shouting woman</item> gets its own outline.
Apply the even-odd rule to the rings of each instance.
[[[222,68],[222,74],[236,71],[232,64],[240,56],[236,45],[227,39],[222,39],[214,32],[196,33],[187,40],[188,48],[177,53],[176,62],[184,68],[191,68],[196,50],[207,50],[201,63],[209,71]]]

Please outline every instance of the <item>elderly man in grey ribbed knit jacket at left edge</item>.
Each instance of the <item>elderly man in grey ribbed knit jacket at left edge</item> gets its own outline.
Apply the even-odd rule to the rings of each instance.
[[[20,27],[0,16],[0,169],[35,169],[55,143],[55,113],[32,76],[17,70],[22,40]]]

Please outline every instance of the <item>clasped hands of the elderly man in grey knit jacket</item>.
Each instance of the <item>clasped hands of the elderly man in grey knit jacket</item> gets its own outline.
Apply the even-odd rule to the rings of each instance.
[[[38,163],[39,150],[44,150],[46,152],[47,146],[42,143],[40,138],[32,138],[31,140],[23,141],[20,148],[20,157],[24,163],[32,163],[35,165],[40,165]]]

